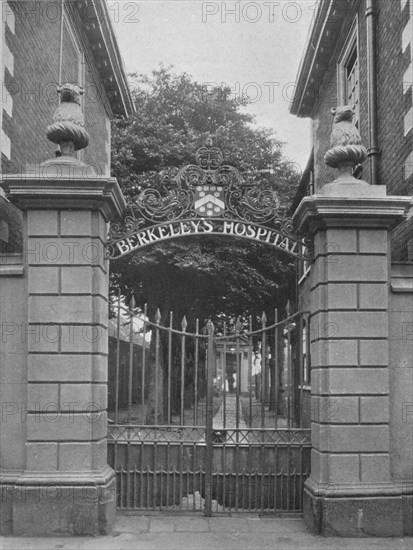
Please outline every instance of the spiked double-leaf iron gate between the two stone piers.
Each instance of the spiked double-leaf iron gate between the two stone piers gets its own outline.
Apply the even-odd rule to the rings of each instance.
[[[188,331],[117,305],[108,459],[129,510],[299,512],[310,469],[303,428],[303,313],[253,330]],[[296,350],[294,352],[294,350]],[[294,360],[294,357],[296,360]],[[297,360],[298,358],[298,360]],[[298,393],[297,393],[298,390]],[[298,395],[298,397],[297,397]]]

